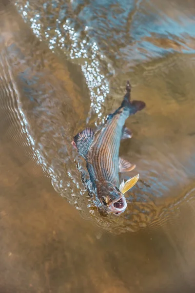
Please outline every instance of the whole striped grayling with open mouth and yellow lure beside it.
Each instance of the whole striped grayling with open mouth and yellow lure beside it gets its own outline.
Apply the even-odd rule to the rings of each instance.
[[[94,132],[87,127],[79,132],[72,142],[87,162],[87,170],[96,191],[97,200],[107,212],[115,214],[126,209],[127,203],[123,194],[132,188],[139,178],[137,174],[125,183],[119,182],[119,172],[131,171],[136,167],[119,158],[121,139],[132,137],[131,131],[124,126],[125,120],[145,107],[144,102],[130,101],[129,82],[127,82],[126,90],[121,106],[113,114],[108,115],[101,129]]]

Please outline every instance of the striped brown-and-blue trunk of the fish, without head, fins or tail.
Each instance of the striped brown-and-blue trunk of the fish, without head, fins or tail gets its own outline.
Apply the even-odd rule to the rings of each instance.
[[[110,182],[119,188],[119,147],[128,108],[120,108],[108,117],[105,126],[94,135],[87,161],[93,166],[96,182]]]

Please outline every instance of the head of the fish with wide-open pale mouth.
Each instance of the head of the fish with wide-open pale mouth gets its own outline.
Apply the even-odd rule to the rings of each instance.
[[[126,199],[117,186],[106,183],[98,191],[98,198],[108,212],[118,215],[127,208]]]

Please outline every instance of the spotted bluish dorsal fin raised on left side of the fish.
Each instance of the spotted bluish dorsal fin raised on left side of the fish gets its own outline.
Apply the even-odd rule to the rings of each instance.
[[[94,138],[94,131],[90,127],[85,128],[74,136],[74,142],[77,146],[78,153],[84,158],[87,158],[89,147]]]

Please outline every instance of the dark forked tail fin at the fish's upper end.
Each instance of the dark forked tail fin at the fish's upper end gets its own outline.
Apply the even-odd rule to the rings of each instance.
[[[137,111],[142,110],[145,108],[146,104],[142,101],[131,101],[131,84],[129,81],[126,85],[126,94],[123,98],[121,107],[126,107],[129,109],[129,115],[135,114]]]

